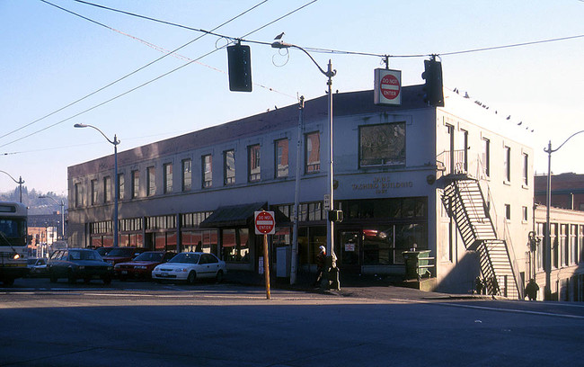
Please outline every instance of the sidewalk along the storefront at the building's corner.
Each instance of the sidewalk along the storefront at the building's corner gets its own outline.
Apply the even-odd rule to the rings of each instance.
[[[341,291],[325,291],[313,286],[314,273],[298,273],[296,284],[290,284],[289,278],[270,278],[272,289],[289,291],[308,291],[327,293],[340,297],[356,297],[375,300],[491,300],[491,296],[472,294],[447,294],[433,291],[420,291],[398,286],[401,279],[375,277],[373,275],[343,275],[341,273]],[[264,275],[259,273],[229,271],[225,282],[249,286],[265,287]]]

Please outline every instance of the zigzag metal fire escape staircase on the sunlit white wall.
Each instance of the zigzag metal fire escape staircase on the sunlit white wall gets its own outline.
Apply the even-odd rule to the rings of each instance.
[[[479,182],[468,176],[452,180],[444,190],[442,201],[466,249],[479,255],[488,293],[520,299],[522,283],[519,285],[517,281],[507,242],[497,237]]]

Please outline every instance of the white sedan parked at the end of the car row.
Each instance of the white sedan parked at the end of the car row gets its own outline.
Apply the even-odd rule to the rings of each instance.
[[[157,265],[152,271],[152,279],[156,282],[180,281],[193,284],[197,279],[223,280],[227,273],[225,261],[216,255],[185,252],[170,259],[167,263]]]

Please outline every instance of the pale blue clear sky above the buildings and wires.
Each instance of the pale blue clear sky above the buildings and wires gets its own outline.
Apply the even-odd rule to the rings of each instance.
[[[584,129],[581,0],[93,4],[126,13],[74,0],[0,0],[0,192],[22,177],[29,190],[66,195],[67,166],[112,154],[98,131],[75,123],[115,135],[124,151],[323,95],[326,77],[310,58],[270,48],[281,32],[320,67],[331,60],[341,93],[372,89],[383,55],[403,85],[422,84],[425,55],[437,54],[444,87],[488,105],[503,132],[534,148],[538,175],[547,173],[548,141],[558,148]],[[233,39],[251,47],[252,93],[229,91]],[[542,40],[555,41],[498,48]],[[554,152],[553,174],[584,174],[582,147],[584,133]]]

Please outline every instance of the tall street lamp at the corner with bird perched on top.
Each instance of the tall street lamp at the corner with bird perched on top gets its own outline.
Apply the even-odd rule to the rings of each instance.
[[[332,70],[332,63],[331,63],[331,59],[329,59],[329,65],[328,65],[328,69],[326,71],[323,70],[322,67],[320,67],[316,61],[314,60],[314,58],[312,56],[310,56],[310,54],[308,53],[308,51],[306,51],[305,49],[290,44],[290,43],[286,43],[284,41],[276,41],[273,42],[271,44],[271,47],[274,49],[300,49],[301,51],[303,51],[308,58],[310,58],[313,62],[314,65],[316,65],[316,67],[318,67],[318,70],[323,73],[324,76],[326,76],[328,78],[326,85],[328,85],[328,94],[329,94],[329,107],[328,107],[328,115],[329,115],[329,174],[328,174],[328,202],[329,202],[329,208],[328,210],[334,210],[334,196],[333,196],[333,179],[334,179],[334,172],[333,172],[333,168],[332,168],[332,76],[335,76],[337,74],[337,70]],[[325,208],[326,209],[326,208]],[[333,222],[331,220],[331,217],[327,215],[327,221],[326,221],[326,263],[325,263],[325,267],[326,269],[331,269],[330,272],[327,272],[327,281],[328,281],[328,286],[330,287],[331,285],[333,286],[333,288],[335,289],[340,289],[341,285],[339,284],[339,277],[338,277],[338,272],[337,272],[337,264],[336,264],[336,260],[335,260],[334,256],[334,225]]]

